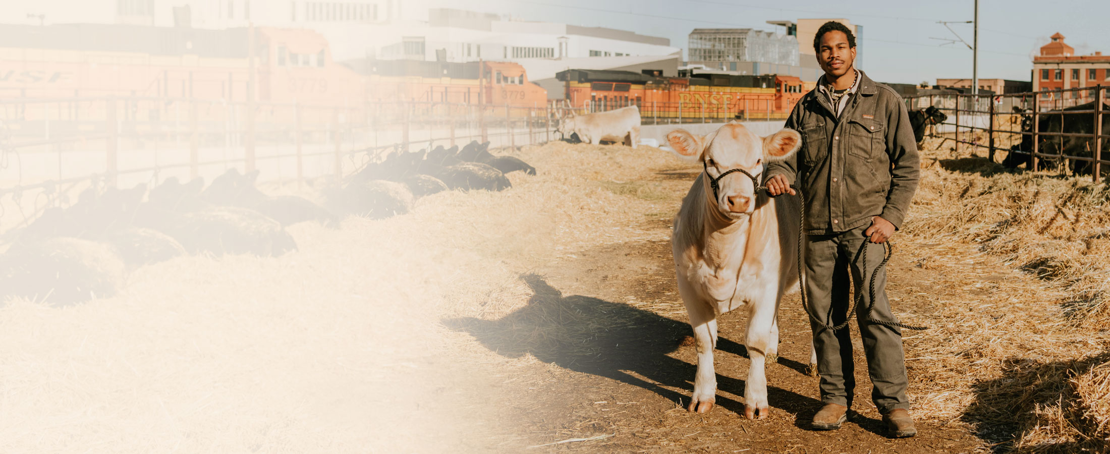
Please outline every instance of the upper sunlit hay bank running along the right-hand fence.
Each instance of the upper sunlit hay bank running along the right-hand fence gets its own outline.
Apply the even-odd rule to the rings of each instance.
[[[1035,173],[929,173],[909,228],[979,244],[1071,293],[1074,320],[1091,326],[1110,323],[1106,183]]]

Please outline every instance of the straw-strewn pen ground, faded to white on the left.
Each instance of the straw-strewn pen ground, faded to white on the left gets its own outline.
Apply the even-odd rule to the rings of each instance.
[[[695,355],[669,236],[699,169],[649,147],[496,152],[538,174],[384,220],[297,224],[299,251],[276,259],[135,270],[83,305],[9,302],[0,451],[1005,452],[1018,427],[997,390],[1110,345],[1060,322],[1058,289],[907,229],[888,293],[904,322],[931,327],[905,337],[918,436],[885,436],[861,355],[849,423],[807,428],[819,402],[797,294],[767,370],[769,417],[743,417],[741,313],[720,319],[718,405],[688,413]],[[947,172],[936,161],[925,178]]]

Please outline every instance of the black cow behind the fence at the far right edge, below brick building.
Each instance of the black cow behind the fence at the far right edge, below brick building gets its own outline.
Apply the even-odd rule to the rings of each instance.
[[[1061,110],[1053,110],[1038,114],[1038,132],[1063,132],[1069,134],[1091,134],[1094,132],[1094,114],[1092,113],[1069,113],[1072,111],[1094,110],[1094,102],[1079,104]],[[1102,134],[1110,135],[1110,105],[1103,107],[1107,113],[1102,114]],[[1023,114],[1021,119],[1021,130],[1031,132],[1032,115]],[[1038,135],[1038,152],[1045,154],[1064,154],[1072,157],[1090,158],[1094,154],[1094,141],[1089,137],[1059,137]],[[1010,153],[1002,161],[1002,165],[1013,169],[1021,164],[1031,168],[1032,135],[1022,135],[1021,143],[1012,147]],[[1107,150],[1110,140],[1102,139],[1102,150]],[[1106,154],[1103,154],[1106,155]],[[1039,161],[1045,161],[1042,157]],[[1072,171],[1078,174],[1090,174],[1091,163],[1087,161],[1071,161]]]

